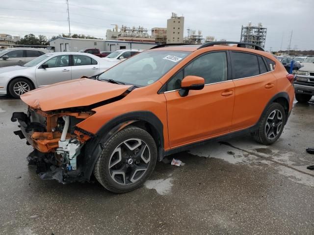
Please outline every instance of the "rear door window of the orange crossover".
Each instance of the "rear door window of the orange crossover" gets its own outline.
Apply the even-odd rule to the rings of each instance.
[[[234,79],[260,74],[258,58],[256,55],[233,51],[231,53],[231,62],[234,71]]]

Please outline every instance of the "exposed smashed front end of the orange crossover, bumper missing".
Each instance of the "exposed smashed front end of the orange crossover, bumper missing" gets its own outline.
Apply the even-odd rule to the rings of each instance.
[[[83,112],[43,112],[28,108],[27,114],[13,113],[11,120],[18,120],[21,130],[15,131],[21,139],[34,147],[28,164],[37,166],[42,179],[55,179],[60,183],[88,180],[82,170],[82,149],[93,135],[76,127],[80,121],[93,115]]]

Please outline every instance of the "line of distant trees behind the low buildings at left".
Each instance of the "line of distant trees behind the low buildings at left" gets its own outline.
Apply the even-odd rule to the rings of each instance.
[[[70,38],[69,35],[66,34],[59,34],[58,36],[52,36],[51,40],[56,38]],[[102,39],[102,38],[95,38],[93,36],[85,36],[84,34],[77,34],[74,33],[71,35],[71,38],[86,38],[86,39]],[[33,45],[33,46],[48,46],[49,45],[48,38],[45,35],[38,35],[36,37],[34,34],[30,33],[25,35],[20,41],[17,42],[18,45]]]

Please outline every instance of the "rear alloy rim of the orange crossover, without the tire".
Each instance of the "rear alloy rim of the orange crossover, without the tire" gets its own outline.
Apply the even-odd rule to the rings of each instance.
[[[265,134],[269,140],[274,140],[283,127],[283,114],[280,110],[273,110],[265,124]]]

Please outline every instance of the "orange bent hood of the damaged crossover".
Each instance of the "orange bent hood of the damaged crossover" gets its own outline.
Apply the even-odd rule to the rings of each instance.
[[[80,78],[35,89],[21,96],[29,106],[42,111],[81,107],[114,98],[131,85]]]

